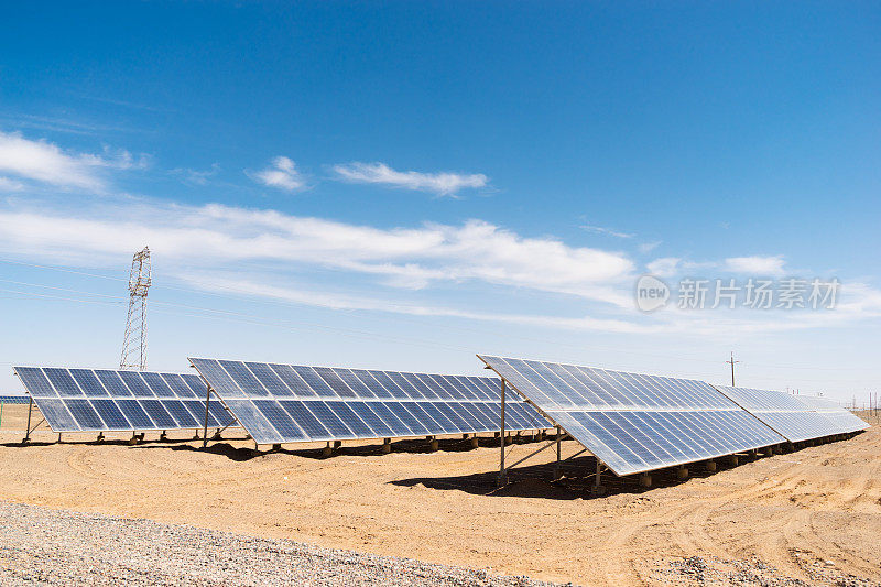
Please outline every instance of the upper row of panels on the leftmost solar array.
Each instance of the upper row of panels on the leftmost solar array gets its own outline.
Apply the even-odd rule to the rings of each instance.
[[[196,374],[17,367],[34,398],[205,398]]]

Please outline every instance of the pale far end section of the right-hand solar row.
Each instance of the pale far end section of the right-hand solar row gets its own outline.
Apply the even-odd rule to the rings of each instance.
[[[792,443],[868,427],[862,420],[818,398],[729,385],[716,389]]]

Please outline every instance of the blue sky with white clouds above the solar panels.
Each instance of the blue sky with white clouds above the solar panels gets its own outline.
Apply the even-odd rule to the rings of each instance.
[[[4,7],[0,389],[187,356],[475,352],[878,391],[881,9]],[[640,312],[637,279],[838,279],[835,309]],[[675,292],[674,292],[675,296]]]

